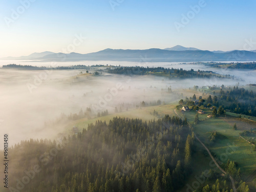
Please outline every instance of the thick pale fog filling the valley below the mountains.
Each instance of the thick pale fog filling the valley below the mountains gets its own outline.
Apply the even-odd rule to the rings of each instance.
[[[125,63],[139,66],[138,63]],[[125,63],[121,62],[120,65]],[[65,63],[63,66],[68,66],[68,64],[70,63]],[[72,65],[78,64],[88,65],[86,63],[73,63]],[[110,64],[114,65],[114,63]],[[211,70],[220,74],[234,75],[240,80],[236,78],[170,80],[165,77],[124,76],[107,73],[99,76],[84,75],[86,70],[1,69],[1,134],[9,134],[11,145],[30,138],[53,139],[57,134],[72,129],[74,121],[59,121],[63,114],[67,116],[70,113],[79,114],[80,110],[84,113],[87,108],[91,108],[90,118],[94,118],[98,112],[101,113],[104,110],[113,114],[115,108],[119,109],[120,106],[123,111],[135,109],[136,105],[142,101],[147,103],[154,103],[157,100],[165,103],[174,102],[181,98],[182,89],[193,88],[195,85],[201,88],[214,84],[234,86],[238,82],[240,85],[255,83],[255,71],[219,70],[201,65],[179,65],[178,63],[151,63],[153,64],[155,67],[162,64],[167,68]],[[24,65],[29,65],[29,63],[24,63]],[[48,63],[44,65],[47,66]],[[172,89],[172,93],[168,92],[168,88]]]

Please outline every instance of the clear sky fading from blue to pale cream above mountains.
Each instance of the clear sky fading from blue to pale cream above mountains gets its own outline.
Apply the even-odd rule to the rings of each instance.
[[[255,0],[1,0],[0,57],[176,45],[243,50],[246,39],[256,42],[255,8]]]

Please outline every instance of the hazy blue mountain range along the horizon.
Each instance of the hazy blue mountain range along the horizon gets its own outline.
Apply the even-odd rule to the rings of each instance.
[[[37,61],[82,61],[82,60],[115,60],[136,62],[189,62],[189,61],[245,61],[256,60],[256,50],[253,51],[203,51],[197,48],[175,46],[166,49],[123,50],[104,49],[102,51],[80,53],[32,53],[28,56],[5,57],[8,60],[37,60]]]

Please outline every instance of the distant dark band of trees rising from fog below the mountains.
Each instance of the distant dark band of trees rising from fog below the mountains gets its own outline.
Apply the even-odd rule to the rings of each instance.
[[[162,74],[169,74],[170,76],[174,74],[175,77],[179,78],[192,78],[192,77],[198,77],[198,78],[210,78],[212,76],[214,77],[222,77],[220,75],[216,75],[212,71],[194,71],[191,70],[183,70],[180,69],[174,69],[174,68],[163,68],[163,67],[119,67],[114,69],[109,69],[108,73],[113,74],[125,74],[125,75],[147,75],[151,73],[162,73]]]

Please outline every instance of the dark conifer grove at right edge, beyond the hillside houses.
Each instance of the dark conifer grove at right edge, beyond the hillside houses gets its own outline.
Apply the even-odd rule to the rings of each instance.
[[[256,94],[252,91],[233,87],[227,91],[221,90],[218,98],[223,104],[228,101],[229,105],[225,105],[225,109],[233,113],[256,116]]]

